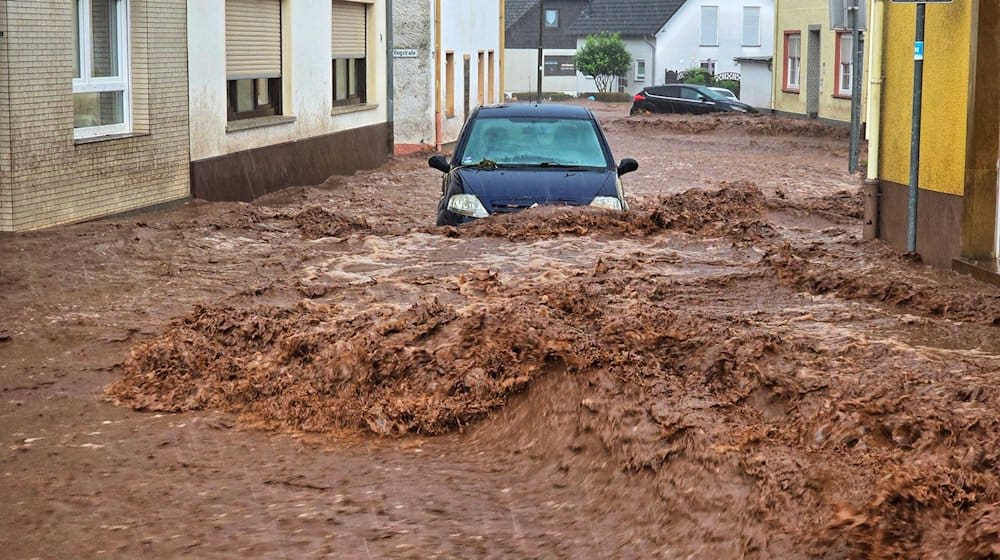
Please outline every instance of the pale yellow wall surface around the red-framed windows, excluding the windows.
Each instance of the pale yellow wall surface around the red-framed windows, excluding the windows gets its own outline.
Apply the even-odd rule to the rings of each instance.
[[[866,2],[868,0],[865,0]],[[834,97],[837,85],[837,33],[830,29],[829,0],[778,0],[775,14],[775,54],[774,54],[774,108],[786,113],[804,115],[806,113],[806,92],[809,82],[809,26],[819,25],[820,29],[820,87],[819,87],[819,117],[843,122],[851,121],[851,100]],[[784,65],[785,63],[785,31],[798,30],[802,33],[802,69],[799,93],[785,93]],[[865,64],[868,68],[868,53],[870,48],[865,43]],[[864,120],[866,111],[864,103],[868,98],[868,78],[862,81],[862,110]]]

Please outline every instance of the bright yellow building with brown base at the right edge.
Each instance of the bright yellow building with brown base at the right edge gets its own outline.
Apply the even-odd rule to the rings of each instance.
[[[873,82],[866,211],[877,237],[907,248],[914,4],[872,0]],[[1000,6],[927,5],[916,247],[924,262],[995,279],[1000,154]],[[875,122],[878,121],[878,122]]]

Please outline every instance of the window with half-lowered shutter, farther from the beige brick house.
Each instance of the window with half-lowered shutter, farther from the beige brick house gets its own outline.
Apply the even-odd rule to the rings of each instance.
[[[368,102],[368,5],[334,0],[330,23],[333,105]]]

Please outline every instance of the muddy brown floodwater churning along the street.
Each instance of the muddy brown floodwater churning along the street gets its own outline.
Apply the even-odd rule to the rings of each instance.
[[[3,557],[1000,557],[1000,292],[840,131],[596,107],[628,213],[400,158],[0,237]]]

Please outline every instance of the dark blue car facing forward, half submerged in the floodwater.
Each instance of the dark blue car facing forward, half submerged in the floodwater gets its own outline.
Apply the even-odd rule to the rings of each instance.
[[[495,213],[544,205],[625,210],[620,177],[639,168],[616,165],[589,109],[513,104],[477,109],[462,129],[445,173],[438,225],[459,225]]]

